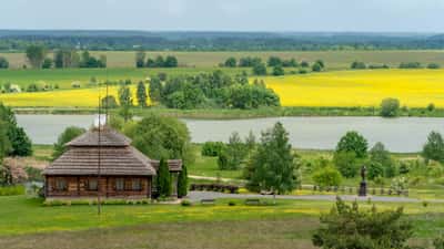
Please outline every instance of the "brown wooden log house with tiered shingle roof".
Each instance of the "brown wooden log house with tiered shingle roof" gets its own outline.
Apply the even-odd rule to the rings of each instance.
[[[47,198],[151,198],[159,160],[131,146],[131,139],[109,128],[94,128],[65,144],[67,152],[43,175]],[[168,160],[176,195],[180,159]],[[99,177],[100,170],[100,177]]]

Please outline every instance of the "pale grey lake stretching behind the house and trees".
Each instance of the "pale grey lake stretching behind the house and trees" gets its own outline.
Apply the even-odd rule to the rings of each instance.
[[[95,115],[17,115],[20,126],[36,144],[53,144],[68,126],[91,127]],[[431,131],[444,133],[444,118],[431,117],[271,117],[254,120],[202,121],[182,120],[192,141],[226,142],[230,134],[246,136],[281,122],[290,133],[293,147],[332,149],[347,131],[362,133],[370,145],[382,142],[392,152],[418,152]]]

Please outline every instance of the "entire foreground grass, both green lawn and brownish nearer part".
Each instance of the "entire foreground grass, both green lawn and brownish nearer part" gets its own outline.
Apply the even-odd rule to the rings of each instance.
[[[250,243],[249,248],[275,248],[276,245],[295,248],[294,243],[312,248],[310,236],[319,226],[319,215],[333,205],[279,200],[276,206],[256,207],[245,206],[242,200],[235,200],[236,206],[228,206],[228,201],[192,207],[104,206],[102,216],[98,217],[95,206],[43,207],[41,199],[0,197],[0,248],[48,248],[51,243],[79,248],[75,241],[85,238],[94,239],[87,242],[91,247],[82,243],[81,248],[178,248],[179,245],[180,248],[203,248],[203,245],[209,245],[204,248],[221,248],[221,245],[244,248]],[[377,204],[380,210],[397,206]],[[421,204],[403,206],[406,218],[415,225],[415,242],[424,245],[442,232],[443,204],[431,204],[427,208]],[[372,204],[362,203],[361,207],[371,208]],[[102,243],[94,245],[94,241]]]

